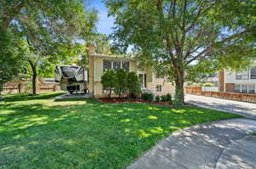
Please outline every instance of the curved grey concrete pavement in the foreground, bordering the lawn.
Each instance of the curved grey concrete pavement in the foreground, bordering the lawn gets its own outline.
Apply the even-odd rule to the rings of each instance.
[[[174,132],[127,169],[256,168],[256,121],[216,121]]]

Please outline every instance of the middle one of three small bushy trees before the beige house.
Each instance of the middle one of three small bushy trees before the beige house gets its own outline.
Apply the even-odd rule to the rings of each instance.
[[[121,98],[121,95],[124,94],[127,90],[127,73],[125,70],[120,69],[115,72],[115,78],[114,78],[114,90],[113,92],[119,95],[119,98]]]

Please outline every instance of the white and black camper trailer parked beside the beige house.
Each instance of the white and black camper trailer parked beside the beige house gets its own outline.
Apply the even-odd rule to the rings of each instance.
[[[86,92],[88,71],[76,65],[56,65],[55,82],[60,82],[61,90],[68,93]]]

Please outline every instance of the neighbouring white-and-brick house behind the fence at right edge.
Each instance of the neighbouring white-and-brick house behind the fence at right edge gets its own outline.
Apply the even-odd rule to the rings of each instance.
[[[256,62],[247,70],[224,70],[218,76],[219,92],[256,93]]]

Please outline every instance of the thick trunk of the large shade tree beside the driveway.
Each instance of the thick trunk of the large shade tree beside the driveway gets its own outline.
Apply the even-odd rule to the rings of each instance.
[[[179,70],[175,80],[174,104],[177,105],[177,107],[183,107],[184,102],[184,71]]]

